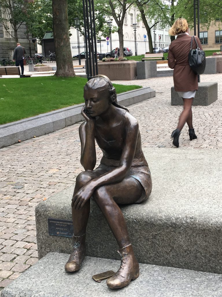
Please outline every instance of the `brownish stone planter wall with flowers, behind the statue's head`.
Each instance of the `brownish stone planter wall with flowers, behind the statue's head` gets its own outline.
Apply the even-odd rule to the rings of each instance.
[[[99,62],[98,73],[110,80],[133,80],[136,77],[136,61]]]

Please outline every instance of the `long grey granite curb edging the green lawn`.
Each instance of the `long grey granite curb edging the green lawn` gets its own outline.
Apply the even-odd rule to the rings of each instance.
[[[155,91],[145,87],[118,94],[119,104],[128,106],[155,97]],[[19,140],[45,135],[83,120],[81,110],[84,103],[40,114],[20,121],[0,125],[0,148]]]

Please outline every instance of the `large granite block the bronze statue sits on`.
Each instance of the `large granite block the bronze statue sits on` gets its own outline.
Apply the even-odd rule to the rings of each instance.
[[[152,174],[150,198],[121,206],[140,263],[222,273],[221,152],[145,148]],[[36,207],[39,257],[70,253],[72,238],[49,235],[48,218],[71,220],[74,185]],[[118,246],[91,201],[86,254],[119,259]]]

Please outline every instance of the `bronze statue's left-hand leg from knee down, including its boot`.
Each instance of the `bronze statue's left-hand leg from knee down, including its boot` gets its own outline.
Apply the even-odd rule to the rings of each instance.
[[[80,173],[76,177],[73,195],[75,195],[81,187],[96,176],[97,174],[93,170],[87,170]],[[86,252],[86,226],[89,219],[89,212],[90,199],[86,202],[82,209],[74,209],[72,207],[74,244],[69,260],[65,264],[65,270],[68,272],[78,271],[81,268],[81,263]]]

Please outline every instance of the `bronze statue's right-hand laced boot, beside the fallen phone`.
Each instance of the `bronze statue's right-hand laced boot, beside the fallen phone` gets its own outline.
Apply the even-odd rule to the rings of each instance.
[[[139,277],[139,264],[134,256],[132,245],[118,250],[121,256],[121,265],[119,270],[109,279],[107,286],[111,289],[118,289],[127,286],[131,280]]]

